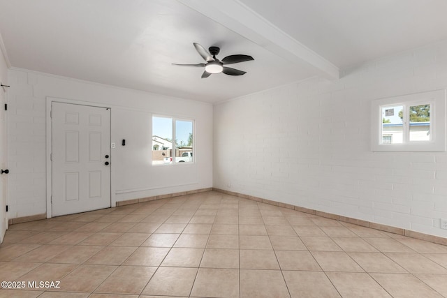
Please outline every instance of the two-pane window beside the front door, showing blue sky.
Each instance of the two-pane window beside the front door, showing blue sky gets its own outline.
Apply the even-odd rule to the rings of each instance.
[[[193,120],[152,117],[152,165],[192,163],[193,128]]]

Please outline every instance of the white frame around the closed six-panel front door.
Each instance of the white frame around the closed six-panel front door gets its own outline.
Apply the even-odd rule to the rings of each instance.
[[[73,105],[87,105],[91,107],[108,107],[110,111],[112,107],[110,105],[103,105],[101,103],[91,103],[87,101],[80,100],[72,100],[66,98],[55,98],[55,97],[47,97],[47,106],[46,106],[46,138],[47,138],[47,218],[52,218],[52,204],[51,204],[51,196],[52,196],[52,122],[51,122],[51,105],[52,103],[70,103]],[[110,112],[110,137],[112,134],[112,112]],[[112,160],[112,151],[110,151],[110,160]],[[112,163],[110,163],[110,204],[113,207],[113,202],[115,202],[115,191],[112,191]]]

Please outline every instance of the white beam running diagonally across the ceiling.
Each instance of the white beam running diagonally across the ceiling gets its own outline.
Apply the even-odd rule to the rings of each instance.
[[[337,66],[265,20],[239,0],[227,0],[225,3],[201,0],[177,1],[288,61],[305,62],[310,68],[317,70],[318,75],[330,80],[339,79]]]

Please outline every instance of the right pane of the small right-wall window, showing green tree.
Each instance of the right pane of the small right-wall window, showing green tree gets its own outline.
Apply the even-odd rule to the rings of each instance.
[[[410,141],[430,141],[430,105],[413,105],[409,114]]]

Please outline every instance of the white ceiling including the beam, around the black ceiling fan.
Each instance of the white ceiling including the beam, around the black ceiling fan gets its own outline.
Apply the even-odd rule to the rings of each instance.
[[[216,103],[447,39],[444,0],[0,0],[8,64]],[[201,79],[193,42],[247,71]],[[0,43],[1,44],[1,43]]]

